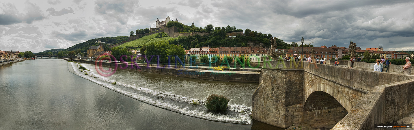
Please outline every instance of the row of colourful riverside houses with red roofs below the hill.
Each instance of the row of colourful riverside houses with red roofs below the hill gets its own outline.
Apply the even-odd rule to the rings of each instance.
[[[199,47],[199,48],[191,48],[190,50],[186,50],[187,58],[191,55],[195,55],[197,57],[197,61],[200,61],[200,57],[203,55],[210,56],[217,56],[221,60],[225,56],[233,57],[233,61],[236,60],[236,57],[243,56],[244,60],[250,58],[251,62],[262,62],[263,59],[267,56],[268,48],[263,47]],[[283,57],[284,52],[286,49],[277,49],[278,56]],[[187,59],[188,60],[188,59]]]

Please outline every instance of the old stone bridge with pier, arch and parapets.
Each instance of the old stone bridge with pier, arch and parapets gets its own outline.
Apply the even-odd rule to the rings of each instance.
[[[371,130],[414,112],[413,91],[413,75],[267,61],[252,96],[252,118],[281,128],[342,119],[333,129]]]

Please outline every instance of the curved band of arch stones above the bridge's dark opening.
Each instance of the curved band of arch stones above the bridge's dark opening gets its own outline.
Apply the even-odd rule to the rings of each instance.
[[[338,88],[339,88],[339,85],[337,85],[337,87],[334,87],[330,84],[323,84],[323,83],[316,83],[307,89],[304,88],[303,104],[306,104],[306,102],[309,99],[309,96],[313,94],[315,91],[323,91],[329,94],[330,96],[332,96],[333,98],[335,98],[347,111],[351,111],[352,107],[354,107],[354,104],[352,104],[352,102],[349,101],[348,95],[344,95],[344,93],[342,92],[344,90],[338,90]]]

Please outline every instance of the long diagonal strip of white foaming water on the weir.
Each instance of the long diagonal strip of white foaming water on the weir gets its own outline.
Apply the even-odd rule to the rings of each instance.
[[[91,72],[89,70],[82,70],[83,72],[81,72],[78,68],[79,65],[82,64],[70,64],[71,65],[69,67],[73,68],[72,73],[79,75],[80,77],[95,82],[96,84],[100,84],[101,86],[113,91],[117,91],[118,93],[160,108],[206,120],[225,123],[238,123],[243,125],[251,124],[251,107],[247,107],[244,104],[229,104],[229,110],[226,113],[212,113],[208,112],[207,108],[204,106],[200,106],[204,105],[205,99],[188,98],[185,96],[177,96],[171,92],[154,91],[152,89],[125,85],[121,81],[110,81],[105,77],[100,76],[96,72]],[[82,66],[86,67],[87,65]],[[94,69],[88,67],[86,68]],[[88,75],[85,75],[84,73],[87,73]],[[112,82],[117,82],[117,84],[112,84]],[[199,103],[200,105],[190,104],[193,101]]]

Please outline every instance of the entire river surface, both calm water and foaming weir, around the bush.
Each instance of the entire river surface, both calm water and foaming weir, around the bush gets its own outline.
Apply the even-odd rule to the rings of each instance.
[[[128,70],[118,70],[119,72],[111,77],[99,77],[96,71],[90,69],[91,65],[82,64],[91,70],[88,71],[89,75],[85,76],[98,76],[90,77],[88,80],[87,77],[79,77],[79,72],[73,73],[77,70],[70,68],[76,64],[55,58],[39,58],[0,67],[0,130],[273,128],[255,121],[253,125],[210,121],[214,118],[219,121],[239,120],[239,123],[247,120],[244,117],[246,114],[239,111],[250,108],[251,94],[257,84],[212,82]],[[108,84],[99,85],[91,81],[117,82],[118,87],[108,89],[101,86]],[[129,93],[130,97],[111,89]],[[229,97],[230,108],[233,110],[229,110],[228,113],[211,113],[203,111],[202,106],[188,107],[188,104],[184,103],[195,100],[202,104],[212,92]],[[168,98],[167,95],[176,96]],[[156,98],[159,101],[146,101],[149,104],[137,100],[146,100],[153,96],[162,98]],[[164,97],[165,101],[162,101]],[[161,108],[153,105],[160,105]],[[169,110],[174,109],[171,106],[175,105],[178,106],[176,108],[185,109],[176,112]],[[183,113],[189,113],[190,116]],[[206,115],[209,116],[209,120],[195,118],[200,114],[209,114]],[[246,122],[251,123],[248,120]]]

